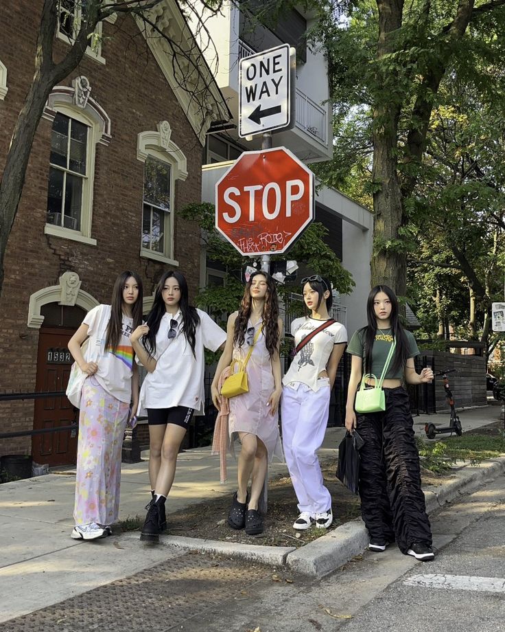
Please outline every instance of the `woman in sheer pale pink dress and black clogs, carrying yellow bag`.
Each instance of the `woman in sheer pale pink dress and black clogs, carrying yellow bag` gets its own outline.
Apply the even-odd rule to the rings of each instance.
[[[238,488],[228,513],[228,525],[249,535],[263,532],[258,502],[265,482],[268,462],[282,458],[279,438],[279,398],[282,392],[279,343],[282,320],[274,281],[266,272],[251,275],[244,290],[242,304],[228,318],[224,351],[211,385],[212,400],[219,410],[221,395],[218,382],[232,359],[244,361],[249,390],[229,400],[228,429],[242,443],[238,460]],[[250,495],[248,484],[251,481]]]

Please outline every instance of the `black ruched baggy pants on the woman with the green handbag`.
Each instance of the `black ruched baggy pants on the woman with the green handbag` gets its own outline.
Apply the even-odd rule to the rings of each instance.
[[[406,553],[419,542],[432,545],[430,520],[421,490],[419,453],[408,394],[402,387],[388,389],[386,411],[357,415],[360,450],[362,518],[375,543],[396,539]]]

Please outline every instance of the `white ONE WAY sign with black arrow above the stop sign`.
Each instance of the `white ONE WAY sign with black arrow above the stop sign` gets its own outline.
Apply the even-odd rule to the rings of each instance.
[[[295,55],[283,44],[240,60],[240,137],[292,127]]]

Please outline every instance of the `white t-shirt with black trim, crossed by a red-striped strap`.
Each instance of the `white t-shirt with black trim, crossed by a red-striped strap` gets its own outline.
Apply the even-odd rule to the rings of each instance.
[[[295,347],[305,336],[322,325],[324,321],[312,317],[295,318],[291,324],[291,333],[294,336]],[[295,355],[290,368],[283,377],[282,383],[287,386],[301,382],[318,391],[321,383],[318,383],[318,375],[326,369],[333,345],[346,343],[347,331],[340,323],[333,323],[318,332]]]

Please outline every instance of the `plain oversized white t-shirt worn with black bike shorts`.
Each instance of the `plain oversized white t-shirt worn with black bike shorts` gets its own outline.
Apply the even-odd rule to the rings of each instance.
[[[139,414],[146,414],[146,408],[172,408],[187,406],[195,411],[203,411],[204,394],[204,348],[218,350],[226,341],[226,332],[215,324],[211,317],[196,310],[200,324],[195,332],[195,356],[182,330],[183,315],[178,311],[174,316],[163,314],[156,334],[156,368],[143,381]],[[175,338],[169,339],[170,321],[178,321]],[[137,361],[139,359],[137,358]]]

